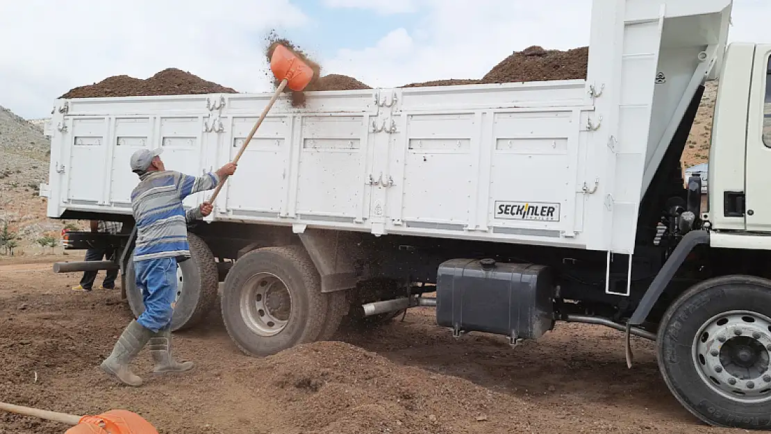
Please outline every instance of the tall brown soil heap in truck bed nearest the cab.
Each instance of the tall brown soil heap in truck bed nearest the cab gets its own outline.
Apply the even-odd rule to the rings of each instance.
[[[586,79],[589,47],[567,51],[545,50],[531,46],[497,64],[480,80],[481,83],[536,82],[548,80]]]

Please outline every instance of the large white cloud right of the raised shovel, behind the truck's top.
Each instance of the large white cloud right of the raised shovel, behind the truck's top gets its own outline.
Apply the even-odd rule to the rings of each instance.
[[[418,1],[426,10],[415,29],[394,30],[370,48],[339,49],[323,61],[325,72],[354,76],[369,86],[479,79],[511,52],[530,45],[571,49],[589,44],[591,0]],[[771,42],[769,16],[767,0],[734,2],[731,40]]]

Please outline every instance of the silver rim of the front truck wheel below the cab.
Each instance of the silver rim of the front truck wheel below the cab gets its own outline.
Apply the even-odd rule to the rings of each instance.
[[[730,311],[706,321],[693,341],[696,370],[712,390],[732,401],[771,399],[771,319]]]

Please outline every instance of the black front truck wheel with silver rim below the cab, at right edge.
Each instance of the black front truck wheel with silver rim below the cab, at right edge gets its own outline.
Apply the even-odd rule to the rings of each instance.
[[[712,426],[771,426],[771,281],[696,284],[665,312],[658,368],[675,398]]]

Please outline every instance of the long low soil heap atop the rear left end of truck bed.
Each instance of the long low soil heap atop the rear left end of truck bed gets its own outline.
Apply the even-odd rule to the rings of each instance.
[[[210,82],[176,68],[167,68],[149,79],[113,76],[90,86],[79,86],[59,98],[99,98],[106,96],[186,95],[197,93],[237,93],[235,89]]]

